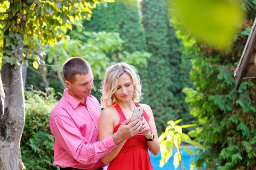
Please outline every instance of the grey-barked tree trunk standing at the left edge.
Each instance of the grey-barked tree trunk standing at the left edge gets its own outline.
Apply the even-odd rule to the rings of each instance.
[[[10,8],[12,7],[13,3],[10,3]],[[16,20],[17,14],[18,12],[8,20],[8,22]],[[2,66],[2,81],[6,86],[6,98],[4,115],[3,118],[0,118],[0,170],[23,169],[20,153],[20,139],[25,124],[25,106],[21,65],[23,59],[23,37],[26,16],[23,17],[20,23],[16,24],[19,25],[19,31],[23,32],[20,34],[20,40],[16,44],[17,55],[15,55],[15,58],[18,59],[17,68],[15,69],[15,65],[11,65],[10,63],[6,63]],[[5,30],[4,35],[9,35],[9,30],[12,30],[12,28],[9,27]],[[14,40],[14,38],[12,40]],[[3,49],[8,49],[6,47],[5,38],[3,40]],[[7,54],[3,53],[3,55]],[[7,56],[11,57],[9,55]]]

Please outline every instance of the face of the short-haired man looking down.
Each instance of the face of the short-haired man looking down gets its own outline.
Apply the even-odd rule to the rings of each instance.
[[[76,81],[73,84],[69,84],[68,89],[70,95],[77,99],[88,97],[93,89],[93,73],[90,71],[86,75],[76,75]]]

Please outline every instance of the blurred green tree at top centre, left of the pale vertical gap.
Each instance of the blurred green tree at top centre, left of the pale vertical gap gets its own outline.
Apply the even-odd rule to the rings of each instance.
[[[87,31],[119,32],[128,52],[145,50],[145,36],[140,22],[137,0],[116,0],[99,4],[90,21],[83,24]]]

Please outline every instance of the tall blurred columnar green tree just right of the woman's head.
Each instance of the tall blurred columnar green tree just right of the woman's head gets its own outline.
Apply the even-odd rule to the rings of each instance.
[[[182,55],[175,29],[170,27],[164,0],[143,0],[141,6],[147,51],[152,53],[148,68],[140,69],[144,102],[153,109],[158,131],[163,131],[168,120],[183,119],[182,123],[186,124],[191,122],[181,92],[183,87],[190,86],[187,72],[190,63]]]

